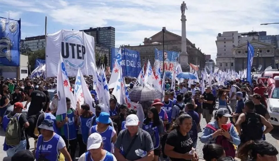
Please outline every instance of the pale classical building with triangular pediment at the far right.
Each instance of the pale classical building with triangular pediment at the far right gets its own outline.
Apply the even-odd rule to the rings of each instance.
[[[260,42],[256,39],[250,41],[254,47],[254,58],[252,67],[258,68],[262,65],[262,70],[272,65],[275,66],[275,60],[278,60],[278,50],[275,45]],[[243,70],[247,67],[247,43],[243,43],[232,48],[233,59],[235,62],[235,71]],[[221,62],[220,62],[221,63]],[[223,66],[223,64],[220,64]],[[224,64],[226,68],[226,64]],[[229,68],[228,68],[229,69]]]

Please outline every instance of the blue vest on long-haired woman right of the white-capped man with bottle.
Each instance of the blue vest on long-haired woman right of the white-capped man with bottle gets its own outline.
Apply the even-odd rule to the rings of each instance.
[[[149,122],[148,125],[143,125],[143,128],[145,131],[147,131],[152,139],[154,149],[158,148],[160,146],[160,135],[159,135],[159,129],[157,126],[152,127],[153,122]]]

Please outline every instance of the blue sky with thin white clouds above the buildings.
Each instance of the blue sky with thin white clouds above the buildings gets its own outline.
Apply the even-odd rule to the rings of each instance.
[[[185,1],[187,39],[215,61],[216,36],[224,31],[279,34],[279,3],[274,0]],[[182,0],[0,0],[0,17],[22,20],[22,39],[61,29],[115,27],[115,45],[139,45],[162,30],[181,35]]]

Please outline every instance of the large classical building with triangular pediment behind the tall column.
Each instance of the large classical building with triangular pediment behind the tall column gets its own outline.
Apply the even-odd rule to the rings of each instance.
[[[151,65],[154,65],[155,61],[155,48],[163,50],[163,33],[162,31],[151,36],[150,38],[144,38],[143,45],[130,46],[125,45],[126,48],[131,50],[137,50],[140,52],[141,65],[145,62],[150,61]],[[164,33],[164,50],[165,51],[177,51],[181,52],[181,36],[165,30]],[[196,48],[195,44],[191,43],[187,39],[187,53],[188,53],[188,64],[200,65],[200,69],[205,67],[205,54],[201,52],[199,48]],[[187,69],[186,62],[181,62],[178,59],[183,71]]]

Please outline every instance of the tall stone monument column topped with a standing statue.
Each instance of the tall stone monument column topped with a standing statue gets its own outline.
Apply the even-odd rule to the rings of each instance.
[[[180,6],[181,10],[181,53],[180,53],[180,65],[183,72],[188,72],[190,70],[188,65],[188,53],[187,53],[187,39],[186,39],[186,16],[185,10],[187,10],[186,3]]]

